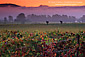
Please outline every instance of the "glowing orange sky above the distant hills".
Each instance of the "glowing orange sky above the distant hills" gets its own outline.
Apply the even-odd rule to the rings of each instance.
[[[20,6],[26,7],[36,7],[39,5],[48,6],[83,6],[85,5],[85,0],[0,0],[2,3],[13,3]]]

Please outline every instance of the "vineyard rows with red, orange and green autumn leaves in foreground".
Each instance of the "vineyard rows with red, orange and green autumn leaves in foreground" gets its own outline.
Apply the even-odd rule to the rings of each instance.
[[[84,31],[0,31],[0,57],[76,57],[84,53]]]

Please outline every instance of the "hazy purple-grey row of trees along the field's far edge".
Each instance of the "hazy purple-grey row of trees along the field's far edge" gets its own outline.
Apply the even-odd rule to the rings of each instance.
[[[35,14],[30,14],[25,16],[24,13],[18,14],[16,16],[16,19],[13,18],[13,16],[8,16],[4,17],[3,23],[21,23],[25,24],[25,22],[46,22],[47,24],[49,22],[60,22],[61,24],[63,22],[72,22],[74,23],[75,21],[77,22],[85,22],[85,15],[83,15],[81,18],[77,19],[75,16],[67,16],[67,15],[35,15]]]

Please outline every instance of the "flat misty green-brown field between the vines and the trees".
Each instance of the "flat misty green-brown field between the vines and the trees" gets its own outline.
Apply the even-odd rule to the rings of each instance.
[[[68,24],[0,24],[0,30],[20,30],[20,31],[54,31],[62,32],[79,32],[85,31],[85,23],[68,23]]]

